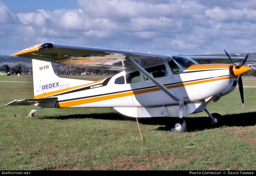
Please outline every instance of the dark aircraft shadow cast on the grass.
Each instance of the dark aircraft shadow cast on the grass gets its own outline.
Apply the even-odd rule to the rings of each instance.
[[[256,112],[223,115],[220,121],[212,125],[208,117],[186,118],[187,132],[202,131],[205,129],[219,128],[221,126],[253,126],[256,125]],[[47,117],[49,119],[101,119],[101,120],[120,120],[120,121],[136,121],[136,118],[127,117],[119,113],[100,113],[100,114],[77,114]],[[177,117],[178,118],[178,117]],[[161,125],[156,130],[169,131],[170,125],[177,120],[176,117],[155,117],[155,118],[138,118],[140,124],[145,125]]]

